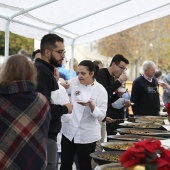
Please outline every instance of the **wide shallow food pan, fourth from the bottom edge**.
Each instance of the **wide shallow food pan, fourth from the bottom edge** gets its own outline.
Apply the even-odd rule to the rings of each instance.
[[[134,141],[138,142],[144,139],[149,139],[149,138],[155,138],[158,140],[165,140],[167,138],[163,137],[158,137],[158,136],[139,136],[139,135],[109,135],[107,136],[109,141],[111,142],[112,140],[119,140],[119,141]]]

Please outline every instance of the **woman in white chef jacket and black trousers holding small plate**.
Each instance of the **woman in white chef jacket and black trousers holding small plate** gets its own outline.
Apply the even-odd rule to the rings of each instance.
[[[77,154],[80,170],[91,170],[90,153],[101,138],[98,120],[106,116],[108,96],[105,88],[95,80],[96,66],[90,60],[78,65],[78,76],[69,80],[67,92],[73,104],[72,117],[62,123],[62,153],[60,170],[71,170]]]

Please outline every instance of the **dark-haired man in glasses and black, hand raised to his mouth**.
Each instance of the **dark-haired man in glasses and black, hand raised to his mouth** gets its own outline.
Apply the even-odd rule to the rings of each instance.
[[[124,117],[123,109],[115,109],[112,103],[118,100],[123,93],[117,92],[117,89],[126,81],[127,64],[129,61],[123,55],[116,54],[108,68],[102,68],[98,71],[97,81],[101,83],[108,93],[108,108],[106,114],[107,135],[116,134],[115,130],[119,127],[120,122],[114,122],[114,119]]]

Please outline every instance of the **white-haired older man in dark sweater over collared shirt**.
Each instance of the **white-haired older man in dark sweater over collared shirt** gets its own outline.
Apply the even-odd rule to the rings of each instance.
[[[132,84],[132,111],[139,116],[159,116],[160,98],[158,81],[155,77],[156,65],[151,60],[143,62],[143,74]]]

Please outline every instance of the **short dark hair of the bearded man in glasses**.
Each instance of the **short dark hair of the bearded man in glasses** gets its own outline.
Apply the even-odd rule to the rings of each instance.
[[[41,39],[41,54],[44,54],[46,49],[56,48],[55,43],[56,41],[64,43],[64,39],[56,34],[47,34],[44,35]]]

